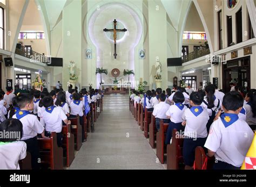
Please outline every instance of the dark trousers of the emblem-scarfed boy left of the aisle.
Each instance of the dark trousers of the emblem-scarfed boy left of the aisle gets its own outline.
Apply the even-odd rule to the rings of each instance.
[[[31,154],[31,166],[32,169],[40,169],[39,164],[39,147],[37,136],[28,140],[23,140],[26,143],[26,151]]]

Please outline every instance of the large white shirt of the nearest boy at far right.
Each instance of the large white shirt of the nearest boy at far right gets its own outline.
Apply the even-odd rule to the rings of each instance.
[[[220,117],[212,123],[205,142],[215,152],[217,160],[240,167],[253,140],[253,131],[244,120],[238,119],[225,127]]]

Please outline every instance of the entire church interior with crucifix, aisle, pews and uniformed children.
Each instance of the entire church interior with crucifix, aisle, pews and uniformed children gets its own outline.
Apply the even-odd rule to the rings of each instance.
[[[255,33],[256,0],[0,0],[0,169],[255,169]]]

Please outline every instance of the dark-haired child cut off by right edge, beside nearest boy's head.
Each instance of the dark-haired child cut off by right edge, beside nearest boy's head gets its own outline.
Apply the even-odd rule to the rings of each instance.
[[[250,91],[245,96],[246,104],[246,123],[250,125],[252,130],[256,127],[256,91]]]

